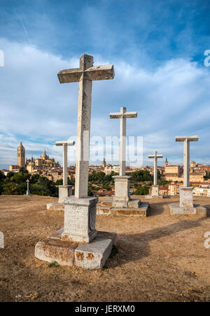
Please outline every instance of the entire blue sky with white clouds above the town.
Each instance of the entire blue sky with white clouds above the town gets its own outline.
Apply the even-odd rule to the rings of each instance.
[[[109,112],[138,112],[127,134],[143,136],[144,165],[158,150],[181,163],[176,135],[198,135],[191,160],[210,164],[210,1],[0,0],[0,168],[43,149],[62,161],[55,141],[76,135],[78,84],[57,72],[78,67],[83,53],[114,64],[114,80],[93,82],[92,136],[113,136]],[[116,161],[115,161],[116,162]],[[160,164],[164,162],[160,161]],[[69,161],[70,163],[70,161]]]

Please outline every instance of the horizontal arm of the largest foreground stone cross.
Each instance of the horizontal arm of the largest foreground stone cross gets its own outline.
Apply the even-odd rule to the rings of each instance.
[[[113,65],[91,66],[85,70],[81,68],[64,69],[59,71],[57,77],[60,83],[79,82],[80,79],[108,80],[115,76]]]

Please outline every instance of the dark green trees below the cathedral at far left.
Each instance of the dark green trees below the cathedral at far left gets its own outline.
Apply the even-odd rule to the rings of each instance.
[[[58,196],[58,188],[54,182],[38,174],[30,175],[25,168],[20,168],[18,173],[8,172],[7,175],[0,171],[0,194],[25,194],[27,191],[27,179],[30,179],[31,194]]]

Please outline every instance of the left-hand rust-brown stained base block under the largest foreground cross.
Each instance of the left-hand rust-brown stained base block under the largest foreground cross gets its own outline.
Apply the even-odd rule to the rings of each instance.
[[[57,261],[60,266],[73,266],[73,254],[78,243],[47,239],[35,247],[35,257],[46,262]]]

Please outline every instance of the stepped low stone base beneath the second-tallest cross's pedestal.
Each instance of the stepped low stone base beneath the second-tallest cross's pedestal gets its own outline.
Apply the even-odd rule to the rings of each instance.
[[[106,199],[97,204],[97,215],[146,217],[148,216],[149,203],[141,202],[140,199],[131,199],[127,207],[116,207],[113,199]]]

